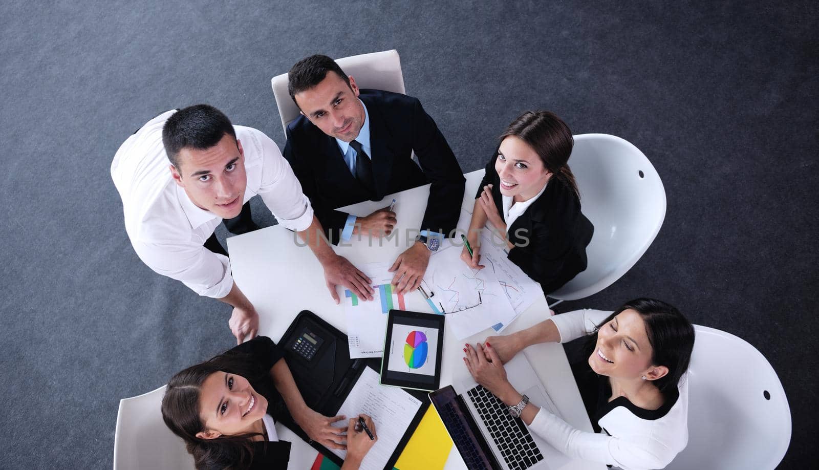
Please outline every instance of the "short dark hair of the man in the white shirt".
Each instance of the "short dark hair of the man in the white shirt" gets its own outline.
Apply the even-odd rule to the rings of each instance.
[[[185,147],[204,150],[219,143],[228,134],[236,140],[236,131],[228,116],[210,105],[193,105],[170,116],[162,127],[162,144],[170,164],[179,169],[179,151]]]

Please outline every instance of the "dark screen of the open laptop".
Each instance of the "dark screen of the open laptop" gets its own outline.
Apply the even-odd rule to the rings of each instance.
[[[467,468],[501,468],[492,450],[486,443],[464,399],[455,394],[452,386],[445,386],[429,394],[432,405],[450,433],[455,448],[464,459]]]

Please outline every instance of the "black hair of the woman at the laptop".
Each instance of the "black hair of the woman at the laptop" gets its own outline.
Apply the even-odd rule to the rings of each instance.
[[[694,349],[694,326],[680,310],[666,302],[645,297],[626,302],[600,322],[595,331],[587,337],[585,347],[587,354],[591,355],[594,352],[600,328],[624,310],[634,310],[643,319],[645,333],[649,337],[652,349],[652,365],[663,365],[668,368],[666,375],[652,383],[663,394],[676,389],[691,360],[691,350]]]

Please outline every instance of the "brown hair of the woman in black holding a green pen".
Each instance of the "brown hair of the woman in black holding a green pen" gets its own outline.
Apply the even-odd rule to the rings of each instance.
[[[574,138],[563,120],[550,111],[524,111],[506,126],[504,133],[500,134],[500,141],[509,136],[520,138],[532,147],[541,157],[545,169],[580,197],[574,174],[567,163],[572,155]]]

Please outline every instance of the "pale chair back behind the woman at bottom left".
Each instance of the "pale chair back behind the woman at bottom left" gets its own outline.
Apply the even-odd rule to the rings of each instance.
[[[114,470],[194,469],[185,443],[162,421],[165,386],[120,400],[114,436]]]

